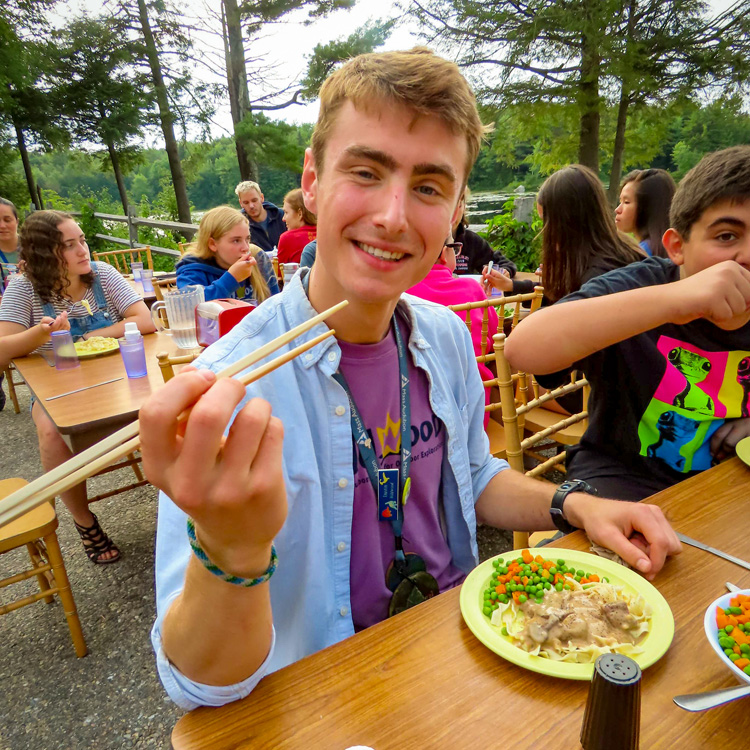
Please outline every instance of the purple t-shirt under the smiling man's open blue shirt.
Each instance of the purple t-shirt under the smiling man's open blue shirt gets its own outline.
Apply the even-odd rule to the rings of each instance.
[[[409,332],[399,326],[404,341]],[[401,465],[401,420],[398,351],[393,330],[377,344],[341,347],[340,369],[373,441],[382,469]],[[432,413],[427,376],[409,359],[412,457],[411,494],[404,509],[403,540],[406,552],[415,552],[427,564],[440,591],[461,583],[464,574],[451,563],[451,553],[440,521],[440,478],[445,449],[445,428]],[[350,563],[352,619],[356,631],[385,620],[392,592],[385,573],[393,562],[393,530],[379,521],[375,490],[354,442],[354,511]]]

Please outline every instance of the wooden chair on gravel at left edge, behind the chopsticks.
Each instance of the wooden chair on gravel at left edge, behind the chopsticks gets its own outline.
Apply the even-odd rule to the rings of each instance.
[[[26,484],[27,482],[23,479],[0,481],[0,498],[7,497]],[[60,544],[57,541],[57,526],[54,506],[51,503],[43,503],[15,521],[0,527],[0,555],[25,545],[31,559],[31,569],[0,580],[0,588],[33,577],[36,577],[39,583],[39,593],[0,606],[0,615],[6,615],[42,599],[47,604],[51,604],[54,597],[59,596],[68,621],[76,656],[86,656],[88,649],[81,630],[81,621],[78,619],[73,593],[70,590],[70,581],[65,571]]]

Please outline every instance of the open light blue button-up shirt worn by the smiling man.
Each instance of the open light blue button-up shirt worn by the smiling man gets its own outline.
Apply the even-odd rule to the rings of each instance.
[[[298,273],[229,334],[209,347],[198,366],[219,371],[315,315]],[[478,562],[475,500],[508,468],[493,458],[482,428],[484,390],[466,326],[452,311],[404,295],[409,351],[427,374],[430,404],[446,428],[441,501],[454,564],[468,573]],[[289,347],[323,333],[320,323]],[[161,623],[184,586],[190,555],[185,514],[162,493],[156,536],[157,618],[151,638],[161,680],[183,708],[217,706],[246,696],[268,672],[354,633],[349,592],[354,475],[349,405],[333,379],[341,351],[331,337],[252,384],[245,401],[268,400],[285,428],[283,471],[289,513],[275,540],[279,565],[270,581],[274,636],[258,671],[228,687],[202,685],[182,675],[164,654]]]

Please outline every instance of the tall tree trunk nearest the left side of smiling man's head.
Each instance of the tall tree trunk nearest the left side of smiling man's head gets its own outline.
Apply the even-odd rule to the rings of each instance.
[[[224,57],[227,68],[229,108],[234,126],[234,146],[237,150],[237,163],[242,180],[257,181],[257,173],[250,155],[237,133],[237,126],[250,114],[250,94],[247,90],[247,69],[245,68],[245,47],[242,43],[242,25],[237,0],[222,0],[222,21],[224,26]]]

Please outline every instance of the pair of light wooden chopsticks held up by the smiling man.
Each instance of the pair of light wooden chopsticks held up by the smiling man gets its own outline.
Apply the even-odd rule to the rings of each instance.
[[[218,372],[216,377],[230,378],[237,373],[242,372],[242,370],[251,367],[269,354],[272,354],[282,346],[293,341],[297,336],[314,328],[318,323],[321,323],[326,318],[338,312],[347,304],[349,303],[346,300],[343,300],[337,305],[324,310],[314,318],[292,328],[290,331],[273,339],[273,341],[269,341],[254,352],[237,360],[234,364],[231,364],[229,367]],[[321,341],[329,336],[333,336],[333,334],[334,331],[329,329],[310,339],[310,341],[307,341],[306,343],[272,359],[267,364],[244,374],[238,378],[238,380],[243,385],[254,383],[256,380],[259,380],[264,375],[272,372],[277,367],[281,367],[281,365],[291,361],[308,349],[317,346]],[[180,418],[184,419],[186,417],[182,415]],[[24,515],[24,513],[28,513],[43,502],[55,497],[55,495],[65,492],[65,490],[68,490],[85,479],[92,477],[104,467],[109,466],[123,456],[132,453],[140,446],[140,436],[138,435],[139,430],[140,423],[136,420],[112,435],[104,438],[104,440],[100,440],[82,453],[73,456],[65,463],[60,464],[60,466],[43,474],[41,477],[25,485],[20,490],[17,490],[3,500],[0,500],[0,526],[14,521],[16,518]]]

